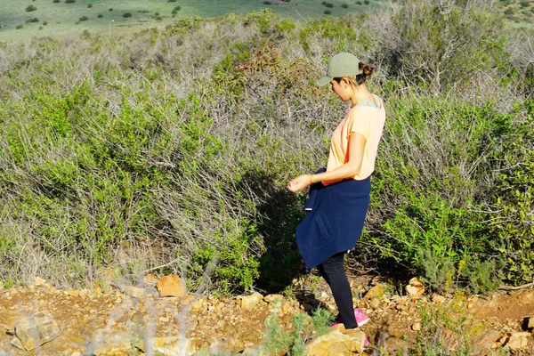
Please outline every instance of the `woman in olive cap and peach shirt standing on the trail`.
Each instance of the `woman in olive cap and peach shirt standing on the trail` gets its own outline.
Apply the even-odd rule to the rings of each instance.
[[[328,166],[287,183],[300,191],[310,186],[305,209],[309,214],[296,228],[296,244],[308,269],[318,268],[336,300],[336,323],[358,328],[368,321],[352,309],[352,290],[344,271],[344,256],[360,238],[369,206],[370,177],[375,169],[378,142],[384,129],[383,101],[365,85],[373,67],[351,53],[338,53],[328,63],[327,75],[317,85],[330,84],[351,107],[332,134]]]

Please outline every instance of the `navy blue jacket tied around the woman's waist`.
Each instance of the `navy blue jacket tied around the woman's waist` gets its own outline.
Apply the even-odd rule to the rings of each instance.
[[[324,168],[318,171],[320,173]],[[325,262],[332,255],[356,245],[363,230],[371,192],[370,176],[324,186],[310,187],[310,198],[304,208],[312,211],[296,227],[296,245],[306,267]]]

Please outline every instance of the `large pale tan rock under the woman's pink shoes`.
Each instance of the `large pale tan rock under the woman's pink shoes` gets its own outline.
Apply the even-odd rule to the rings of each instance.
[[[346,330],[342,325],[330,328],[328,334],[317,337],[306,346],[306,356],[345,356],[363,352],[365,334],[358,329]]]

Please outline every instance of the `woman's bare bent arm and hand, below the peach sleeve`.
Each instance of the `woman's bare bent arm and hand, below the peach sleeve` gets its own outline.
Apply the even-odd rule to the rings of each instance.
[[[348,151],[349,157],[343,166],[339,166],[330,172],[299,175],[287,183],[287,189],[296,192],[305,189],[312,183],[340,181],[345,178],[352,178],[354,175],[360,174],[361,162],[363,161],[363,152],[365,150],[366,142],[367,140],[362,134],[350,134]]]

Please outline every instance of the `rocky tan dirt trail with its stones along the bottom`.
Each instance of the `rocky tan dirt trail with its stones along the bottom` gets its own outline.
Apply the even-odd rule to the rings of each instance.
[[[427,354],[432,348],[449,354],[465,344],[473,354],[534,354],[532,290],[428,295],[412,279],[398,295],[367,276],[351,279],[351,285],[355,306],[370,321],[356,331],[338,327],[327,336],[303,336],[308,355]],[[297,298],[216,298],[187,294],[175,275],[150,274],[137,287],[110,278],[82,290],[59,290],[36,279],[0,291],[0,355],[269,354],[262,351],[264,321],[273,312],[287,330],[299,312],[322,307],[336,313],[322,279],[295,280],[293,287]],[[361,331],[371,346],[364,352]],[[340,344],[344,350],[336,349]]]

